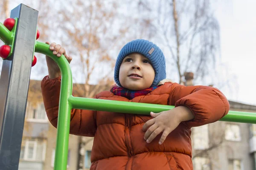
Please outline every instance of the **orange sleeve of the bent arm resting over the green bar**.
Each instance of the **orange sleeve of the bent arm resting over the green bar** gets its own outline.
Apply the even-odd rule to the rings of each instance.
[[[209,86],[183,86],[172,84],[169,105],[186,106],[195,118],[185,123],[195,127],[216,122],[227,115],[230,105],[224,94]]]

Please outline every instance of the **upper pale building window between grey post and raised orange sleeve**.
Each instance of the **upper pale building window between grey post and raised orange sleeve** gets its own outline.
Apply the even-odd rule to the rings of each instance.
[[[35,107],[28,102],[26,113],[27,121],[29,122],[47,123],[47,115],[45,112],[44,103],[40,103]]]

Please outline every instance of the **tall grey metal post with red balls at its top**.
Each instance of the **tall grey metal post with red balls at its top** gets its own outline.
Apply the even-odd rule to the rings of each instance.
[[[17,170],[26,112],[38,11],[20,4],[14,51],[3,61],[0,77],[0,170]]]

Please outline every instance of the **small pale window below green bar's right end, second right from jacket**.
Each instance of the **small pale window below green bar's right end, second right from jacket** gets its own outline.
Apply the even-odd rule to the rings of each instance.
[[[226,125],[225,139],[228,141],[241,141],[239,125]]]

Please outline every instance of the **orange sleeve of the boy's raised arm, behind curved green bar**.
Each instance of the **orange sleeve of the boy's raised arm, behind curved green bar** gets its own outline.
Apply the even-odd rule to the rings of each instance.
[[[41,90],[44,107],[51,124],[57,128],[58,106],[61,89],[61,77],[49,79],[44,77]],[[93,137],[96,132],[96,111],[72,109],[70,117],[70,134]]]

